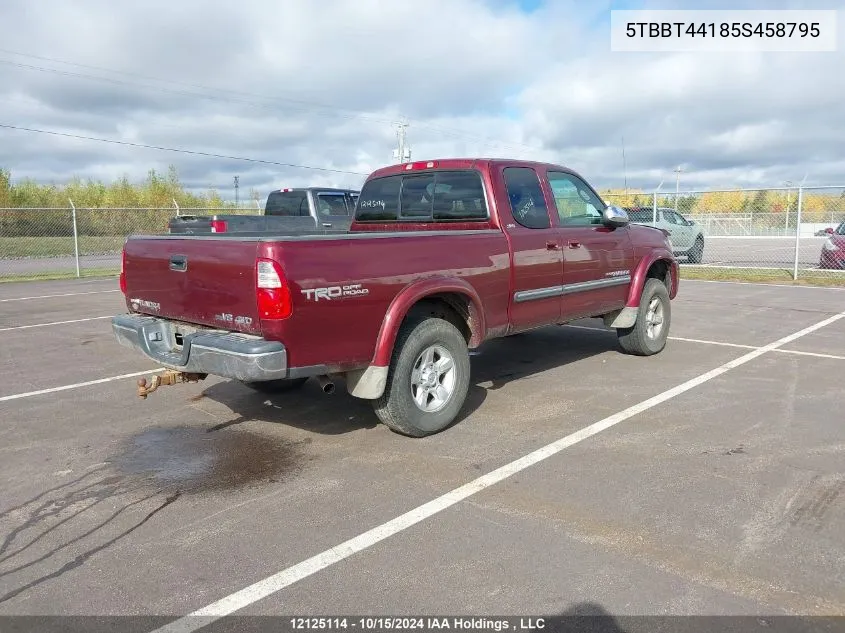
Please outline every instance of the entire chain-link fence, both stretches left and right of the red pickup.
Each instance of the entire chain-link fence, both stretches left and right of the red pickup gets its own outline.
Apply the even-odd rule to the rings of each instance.
[[[605,194],[635,223],[670,232],[683,267],[843,277],[845,186]],[[0,281],[117,274],[131,234],[167,233],[177,207],[0,209]],[[831,234],[832,233],[832,234]]]

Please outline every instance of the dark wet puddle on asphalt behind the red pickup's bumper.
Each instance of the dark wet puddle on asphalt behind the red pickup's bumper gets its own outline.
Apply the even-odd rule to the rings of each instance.
[[[305,459],[301,444],[243,428],[151,428],[130,438],[112,464],[124,475],[183,493],[233,490],[297,472]]]

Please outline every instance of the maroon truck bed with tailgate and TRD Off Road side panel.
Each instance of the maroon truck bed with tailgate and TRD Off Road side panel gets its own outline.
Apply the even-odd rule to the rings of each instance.
[[[391,302],[426,277],[460,276],[483,297],[487,327],[507,326],[510,255],[499,230],[143,236],[125,253],[133,312],[289,342],[296,367],[369,362]],[[259,258],[283,268],[290,318],[259,318]]]

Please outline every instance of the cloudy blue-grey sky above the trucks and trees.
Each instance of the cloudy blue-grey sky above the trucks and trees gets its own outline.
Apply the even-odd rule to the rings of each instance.
[[[242,197],[360,186],[405,117],[414,159],[551,160],[602,188],[674,189],[679,164],[682,190],[845,183],[845,12],[837,52],[612,51],[611,9],[639,8],[845,4],[2,0],[0,125],[232,158],[0,127],[0,166],[58,183],[172,163],[231,199],[235,175]]]

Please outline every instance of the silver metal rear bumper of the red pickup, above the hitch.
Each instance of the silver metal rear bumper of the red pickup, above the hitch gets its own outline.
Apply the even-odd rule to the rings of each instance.
[[[288,377],[288,355],[278,341],[218,330],[195,330],[167,319],[137,314],[112,318],[117,342],[177,371],[233,380]],[[182,345],[175,336],[182,334]]]

